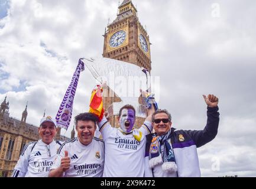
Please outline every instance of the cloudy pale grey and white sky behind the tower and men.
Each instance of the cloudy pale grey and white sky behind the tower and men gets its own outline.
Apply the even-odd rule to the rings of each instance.
[[[256,25],[254,0],[133,0],[150,35],[159,106],[173,127],[203,129],[202,94],[219,97],[216,138],[198,149],[203,177],[256,176]],[[101,56],[118,0],[0,0],[0,101],[38,125],[57,109],[80,57]],[[88,110],[95,80],[82,72],[73,115]],[[70,136],[72,126],[66,132]],[[64,132],[63,132],[64,134]]]

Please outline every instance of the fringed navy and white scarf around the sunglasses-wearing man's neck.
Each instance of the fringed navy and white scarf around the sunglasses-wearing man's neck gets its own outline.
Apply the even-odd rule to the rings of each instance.
[[[162,164],[161,168],[163,171],[176,172],[177,165],[171,147],[171,130],[161,136],[153,136],[150,145],[149,153],[149,165],[150,168],[154,168],[156,165]],[[164,146],[163,153],[161,153],[161,146]]]

